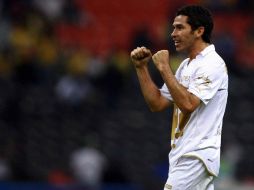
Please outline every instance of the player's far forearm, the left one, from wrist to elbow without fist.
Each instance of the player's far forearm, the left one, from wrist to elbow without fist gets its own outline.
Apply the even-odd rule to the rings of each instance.
[[[155,85],[147,67],[136,68],[142,94],[151,111],[164,110],[169,102],[162,97],[160,90]]]

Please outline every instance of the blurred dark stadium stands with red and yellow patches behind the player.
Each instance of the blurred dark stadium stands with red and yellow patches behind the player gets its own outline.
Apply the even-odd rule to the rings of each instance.
[[[0,189],[163,189],[171,111],[148,110],[129,53],[166,48],[176,68],[190,3],[212,10],[230,77],[216,189],[254,189],[252,0],[1,0]]]

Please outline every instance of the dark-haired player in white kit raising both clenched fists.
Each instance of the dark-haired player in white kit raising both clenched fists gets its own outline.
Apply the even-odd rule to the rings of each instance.
[[[227,69],[210,41],[213,20],[209,10],[197,5],[179,9],[173,28],[171,37],[176,50],[188,55],[175,75],[167,50],[152,55],[146,47],[137,47],[130,56],[151,111],[171,105],[174,109],[164,190],[213,190],[220,167],[222,120],[228,96]],[[151,58],[164,80],[161,88],[149,74]]]

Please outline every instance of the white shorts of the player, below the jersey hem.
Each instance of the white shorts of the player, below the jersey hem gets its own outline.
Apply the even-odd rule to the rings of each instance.
[[[213,178],[198,158],[181,157],[169,167],[164,190],[214,190]]]

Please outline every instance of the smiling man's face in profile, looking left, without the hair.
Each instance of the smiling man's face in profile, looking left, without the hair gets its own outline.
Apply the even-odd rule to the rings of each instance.
[[[191,26],[187,23],[187,16],[179,15],[175,17],[173,22],[174,31],[171,34],[175,42],[176,51],[189,52],[196,39],[195,31],[192,31]]]

